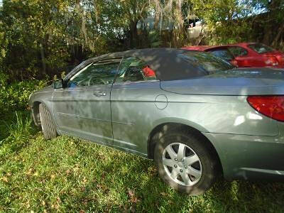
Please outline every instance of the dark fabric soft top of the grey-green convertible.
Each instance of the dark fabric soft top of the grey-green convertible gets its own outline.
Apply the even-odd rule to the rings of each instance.
[[[90,60],[104,60],[106,58],[119,58],[123,56],[136,57],[146,62],[151,69],[155,70],[157,79],[162,81],[203,76],[204,71],[198,70],[179,56],[186,52],[198,53],[200,51],[175,48],[148,48],[108,53]]]

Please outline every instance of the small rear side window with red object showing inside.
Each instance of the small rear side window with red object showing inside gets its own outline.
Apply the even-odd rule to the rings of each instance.
[[[125,58],[119,66],[119,72],[115,82],[138,82],[155,80],[155,71],[138,58]]]

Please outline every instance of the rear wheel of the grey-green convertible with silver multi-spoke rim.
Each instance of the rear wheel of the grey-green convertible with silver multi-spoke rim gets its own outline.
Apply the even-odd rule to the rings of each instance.
[[[217,159],[207,141],[187,129],[172,129],[159,135],[155,136],[154,160],[160,177],[178,192],[206,192],[217,177]]]

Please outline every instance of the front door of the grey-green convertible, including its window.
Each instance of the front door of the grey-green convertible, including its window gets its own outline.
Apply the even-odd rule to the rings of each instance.
[[[53,113],[60,131],[112,143],[110,92],[120,61],[89,62],[65,80],[65,88],[55,89]]]

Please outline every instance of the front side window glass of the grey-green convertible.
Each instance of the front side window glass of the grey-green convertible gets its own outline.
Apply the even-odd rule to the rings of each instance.
[[[67,87],[88,87],[112,84],[121,59],[92,62],[82,68],[67,82]]]

